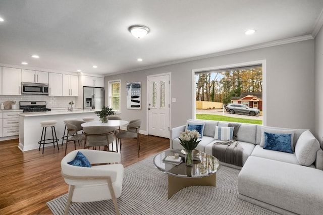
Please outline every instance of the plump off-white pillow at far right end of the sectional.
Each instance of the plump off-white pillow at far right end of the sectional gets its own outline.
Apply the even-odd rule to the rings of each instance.
[[[295,155],[298,163],[303,166],[310,166],[316,159],[316,152],[319,149],[319,142],[313,134],[307,130],[298,138],[295,146]]]

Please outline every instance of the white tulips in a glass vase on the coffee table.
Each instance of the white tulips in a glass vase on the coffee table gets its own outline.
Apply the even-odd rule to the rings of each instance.
[[[196,148],[198,143],[201,140],[197,140],[200,138],[201,135],[196,130],[185,130],[184,132],[180,133],[180,137],[178,138],[180,140],[180,144],[185,149],[185,165],[188,167],[193,166],[193,150]]]

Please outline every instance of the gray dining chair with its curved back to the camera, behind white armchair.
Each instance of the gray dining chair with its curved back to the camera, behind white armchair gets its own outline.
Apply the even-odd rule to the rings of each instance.
[[[87,126],[83,128],[85,135],[84,148],[104,146],[104,151],[110,151],[109,144],[114,141],[115,127]]]

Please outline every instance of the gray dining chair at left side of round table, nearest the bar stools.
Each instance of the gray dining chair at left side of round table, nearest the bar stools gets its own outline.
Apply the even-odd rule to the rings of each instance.
[[[75,144],[75,149],[76,149],[76,141],[78,141],[80,145],[80,141],[85,140],[84,134],[79,134],[79,131],[82,131],[83,128],[81,126],[82,123],[85,123],[84,121],[81,120],[69,120],[65,122],[66,128],[67,128],[67,137],[66,137],[66,146],[65,146],[65,155],[67,151],[67,143],[70,140],[73,140]],[[69,139],[69,136],[71,138]]]

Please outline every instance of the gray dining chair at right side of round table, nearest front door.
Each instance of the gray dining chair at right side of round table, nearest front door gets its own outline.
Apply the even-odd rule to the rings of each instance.
[[[137,139],[137,148],[138,148],[138,157],[140,150],[140,142],[139,142],[139,129],[141,126],[141,120],[132,120],[127,125],[127,131],[121,131],[117,134],[118,142],[120,139],[120,151],[122,146],[122,139],[126,138],[136,138]],[[117,146],[119,147],[119,146]]]

